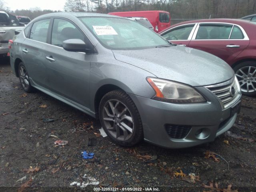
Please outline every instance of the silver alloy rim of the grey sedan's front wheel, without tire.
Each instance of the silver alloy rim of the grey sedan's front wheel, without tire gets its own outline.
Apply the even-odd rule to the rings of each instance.
[[[130,110],[122,102],[111,99],[104,104],[102,118],[108,132],[117,140],[126,141],[134,132],[134,120]]]

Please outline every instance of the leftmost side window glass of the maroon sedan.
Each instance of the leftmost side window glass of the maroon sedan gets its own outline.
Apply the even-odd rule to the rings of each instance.
[[[194,26],[195,26],[195,24],[176,27],[174,29],[169,30],[168,32],[166,32],[162,36],[164,38],[166,38],[167,40],[169,40],[169,41],[172,41],[172,40],[188,40],[188,36],[190,35]]]

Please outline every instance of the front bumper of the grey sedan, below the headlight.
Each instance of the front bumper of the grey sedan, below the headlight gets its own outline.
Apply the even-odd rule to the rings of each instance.
[[[136,104],[142,119],[144,140],[166,148],[187,148],[212,142],[229,130],[236,120],[241,95],[230,108],[222,109],[219,100],[209,90],[200,87],[208,102],[200,104],[173,104],[129,94]],[[238,109],[237,109],[238,108]],[[188,126],[184,138],[172,138],[166,125]],[[201,131],[201,132],[200,132]],[[199,133],[199,134],[198,134]]]

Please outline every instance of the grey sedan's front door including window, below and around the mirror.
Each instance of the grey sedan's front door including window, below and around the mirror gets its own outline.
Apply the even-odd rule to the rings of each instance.
[[[62,48],[62,42],[81,39],[88,48],[92,44],[74,22],[64,18],[54,18],[51,31],[50,44],[44,57],[48,88],[89,108],[90,60],[93,54],[66,51]]]

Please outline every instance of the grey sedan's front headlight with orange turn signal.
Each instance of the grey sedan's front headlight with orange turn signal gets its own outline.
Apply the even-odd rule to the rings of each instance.
[[[188,85],[153,77],[148,77],[147,81],[156,92],[156,100],[172,103],[206,102],[200,93]]]

